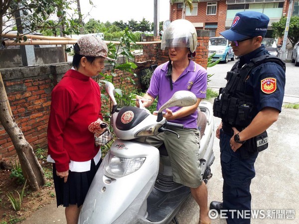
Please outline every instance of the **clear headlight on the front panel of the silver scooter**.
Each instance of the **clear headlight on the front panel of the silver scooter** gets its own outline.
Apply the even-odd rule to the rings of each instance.
[[[122,158],[109,153],[104,167],[109,176],[120,178],[139,170],[145,161],[146,157]]]

